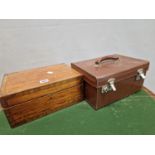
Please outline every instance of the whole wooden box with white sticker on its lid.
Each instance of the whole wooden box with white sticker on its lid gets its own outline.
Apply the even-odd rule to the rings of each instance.
[[[66,64],[6,74],[0,101],[11,127],[83,100],[82,75]]]

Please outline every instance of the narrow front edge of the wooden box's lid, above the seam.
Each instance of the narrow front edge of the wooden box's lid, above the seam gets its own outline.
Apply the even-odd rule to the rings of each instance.
[[[40,87],[39,89],[32,89],[31,91],[25,91],[17,93],[8,97],[5,97],[5,103],[2,104],[3,108],[9,108],[23,102],[44,96],[46,94],[56,93],[61,90],[79,85],[83,82],[82,77],[76,77],[67,79],[61,82],[57,82],[51,85]]]

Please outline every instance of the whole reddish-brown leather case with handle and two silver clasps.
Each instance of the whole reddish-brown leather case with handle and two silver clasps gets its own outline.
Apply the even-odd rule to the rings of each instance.
[[[94,109],[99,109],[139,91],[149,62],[114,54],[71,66],[84,75],[86,100]]]

